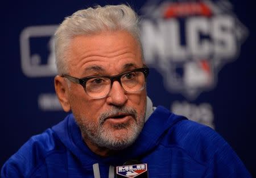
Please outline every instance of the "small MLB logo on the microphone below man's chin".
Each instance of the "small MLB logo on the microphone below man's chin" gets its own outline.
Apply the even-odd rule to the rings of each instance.
[[[122,177],[137,177],[147,172],[147,164],[121,165],[116,167],[116,173]]]

